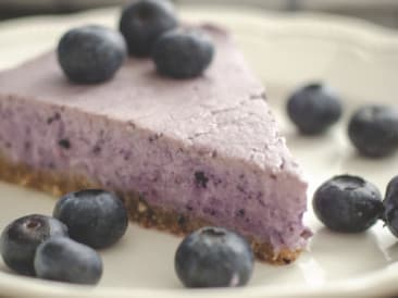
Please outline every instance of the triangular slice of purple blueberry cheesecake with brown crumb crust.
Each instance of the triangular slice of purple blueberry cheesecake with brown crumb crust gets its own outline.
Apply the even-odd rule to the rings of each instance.
[[[260,80],[228,34],[199,78],[129,59],[108,83],[75,85],[54,52],[0,73],[0,178],[52,195],[116,191],[133,221],[175,234],[237,231],[289,263],[306,246],[307,183]]]

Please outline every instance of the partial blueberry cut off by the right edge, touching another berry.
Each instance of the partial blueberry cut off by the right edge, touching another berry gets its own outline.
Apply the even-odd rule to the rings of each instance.
[[[398,237],[398,176],[395,176],[388,183],[383,204],[383,219],[389,231]]]

